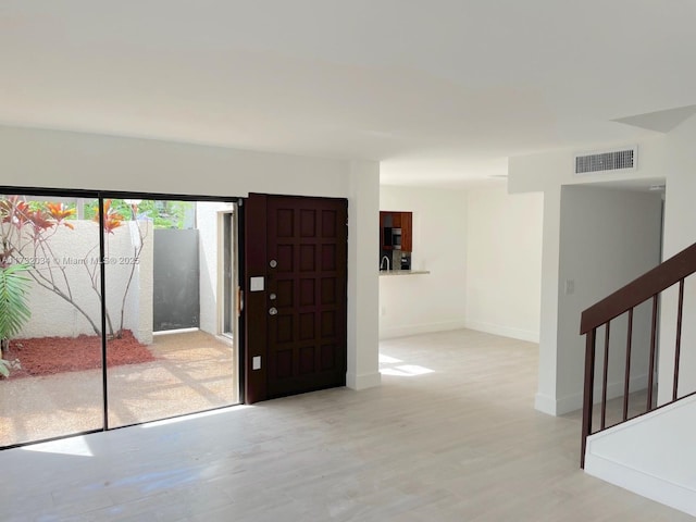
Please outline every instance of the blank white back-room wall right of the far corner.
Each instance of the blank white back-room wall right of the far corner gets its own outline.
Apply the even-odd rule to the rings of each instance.
[[[467,327],[538,343],[544,195],[467,192]]]

